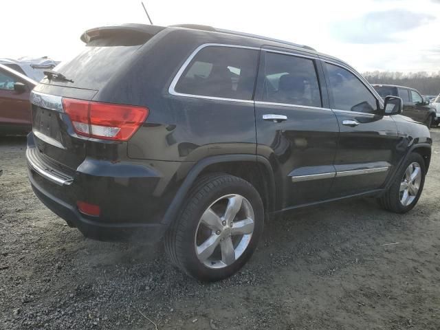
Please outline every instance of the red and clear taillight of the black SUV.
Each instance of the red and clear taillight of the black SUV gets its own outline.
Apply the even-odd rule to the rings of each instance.
[[[129,140],[148,117],[145,107],[72,98],[63,98],[63,109],[78,135],[104,140]]]

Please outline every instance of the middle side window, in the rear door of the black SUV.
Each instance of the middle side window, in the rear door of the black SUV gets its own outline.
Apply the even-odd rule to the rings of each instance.
[[[321,107],[314,61],[267,52],[263,101]]]

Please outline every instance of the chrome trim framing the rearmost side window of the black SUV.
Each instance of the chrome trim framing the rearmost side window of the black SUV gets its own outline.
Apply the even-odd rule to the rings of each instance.
[[[250,46],[241,46],[241,45],[228,45],[224,43],[203,43],[203,45],[199,45],[194,52],[186,58],[186,61],[184,64],[181,65],[179,71],[171,81],[170,87],[168,87],[168,93],[174,96],[184,96],[186,98],[203,98],[206,100],[219,100],[219,101],[232,101],[232,102],[243,102],[243,103],[254,103],[254,100],[241,100],[239,98],[219,98],[217,96],[205,96],[205,95],[197,95],[197,94],[185,94],[185,93],[179,93],[178,91],[175,91],[175,87],[177,83],[179,82],[179,79],[181,78],[181,75],[184,74],[184,71],[186,67],[191,63],[192,59],[195,58],[197,53],[199,53],[203,48],[206,47],[230,47],[230,48],[243,48],[245,50],[260,50],[258,47],[250,47]]]

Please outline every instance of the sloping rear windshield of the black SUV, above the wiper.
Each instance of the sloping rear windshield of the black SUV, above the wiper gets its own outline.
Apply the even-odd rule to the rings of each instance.
[[[90,41],[72,61],[62,62],[54,69],[74,83],[48,79],[43,83],[98,90],[140,46],[121,45],[120,40],[110,37]]]

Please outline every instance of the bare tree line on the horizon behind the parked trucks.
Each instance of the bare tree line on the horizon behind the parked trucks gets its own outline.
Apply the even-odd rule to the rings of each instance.
[[[400,85],[417,89],[424,95],[440,94],[439,72],[364,72],[363,76],[371,84]]]

